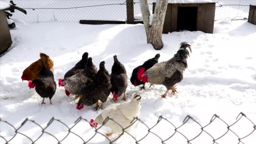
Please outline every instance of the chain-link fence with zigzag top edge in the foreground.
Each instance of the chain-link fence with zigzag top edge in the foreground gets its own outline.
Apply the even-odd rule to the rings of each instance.
[[[38,144],[42,142],[45,144],[46,141],[51,144],[116,144],[123,143],[125,141],[136,144],[173,144],[172,140],[176,139],[176,143],[179,144],[198,144],[202,143],[199,142],[202,140],[202,144],[221,144],[222,139],[226,139],[225,144],[227,144],[227,141],[229,144],[254,144],[256,141],[256,125],[243,112],[240,112],[235,122],[229,124],[216,114],[213,115],[210,122],[206,125],[200,124],[197,120],[189,115],[185,117],[183,123],[179,126],[176,126],[163,116],[160,116],[157,122],[152,126],[148,126],[138,117],[135,117],[131,121],[131,125],[125,128],[122,127],[121,124],[117,123],[117,125],[122,128],[123,133],[119,133],[115,136],[106,136],[104,131],[101,131],[101,129],[104,129],[104,125],[108,121],[117,123],[112,118],[107,117],[100,127],[96,128],[93,126],[93,129],[88,130],[91,131],[91,133],[88,134],[89,132],[86,130],[86,128],[90,127],[89,124],[92,123],[83,117],[79,117],[72,125],[67,125],[61,120],[52,117],[45,126],[42,126],[34,120],[30,120],[28,118],[26,118],[21,125],[16,126],[3,119],[0,119],[0,142],[5,144]],[[155,131],[155,128],[158,125],[163,125],[163,123],[165,123],[165,127],[162,129],[162,131],[165,133],[165,135]],[[133,125],[140,125],[140,128],[144,126],[144,133],[139,132],[139,136],[138,134],[134,134],[134,131],[128,131],[128,128]],[[187,125],[190,125],[190,129],[188,129]],[[198,131],[195,131],[191,125],[194,125],[194,128],[197,128]],[[223,131],[218,130],[215,131],[215,133],[210,131],[209,128],[219,128],[218,125],[221,125]],[[239,129],[238,131],[235,130],[237,126]],[[26,130],[23,129],[24,127],[27,127]],[[61,131],[58,130],[58,127],[61,127]],[[84,131],[80,131],[80,133],[78,133],[76,132],[76,130],[78,130],[77,128]],[[185,131],[182,130],[184,128]],[[133,129],[138,133],[138,127],[134,127]],[[31,136],[27,134],[28,131],[32,131],[33,135]],[[193,134],[189,135],[187,132]],[[99,138],[99,136],[101,136],[101,138]],[[148,141],[145,141],[145,139],[148,139]]]

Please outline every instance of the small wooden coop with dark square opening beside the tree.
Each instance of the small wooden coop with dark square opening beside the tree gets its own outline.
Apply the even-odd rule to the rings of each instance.
[[[168,3],[163,33],[180,30],[213,33],[214,16],[215,3]]]

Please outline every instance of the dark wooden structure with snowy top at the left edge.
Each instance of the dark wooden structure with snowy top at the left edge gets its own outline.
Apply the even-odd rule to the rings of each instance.
[[[3,2],[1,1],[0,4],[0,54],[2,54],[7,51],[8,48],[10,48],[13,42],[11,40],[11,34],[4,11],[6,6],[4,6]]]

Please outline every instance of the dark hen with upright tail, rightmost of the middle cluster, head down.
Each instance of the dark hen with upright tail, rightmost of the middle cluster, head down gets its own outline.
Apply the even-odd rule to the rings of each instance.
[[[123,94],[123,99],[126,100],[125,91],[128,86],[127,75],[125,66],[117,59],[117,55],[114,56],[114,64],[111,69],[110,81],[112,85],[111,92],[113,94],[113,100],[116,101],[119,96]]]

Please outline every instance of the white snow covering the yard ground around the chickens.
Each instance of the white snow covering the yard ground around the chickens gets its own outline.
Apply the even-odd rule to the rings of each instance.
[[[128,83],[127,96],[131,98],[134,92],[141,93],[140,119],[149,127],[157,123],[158,117],[170,120],[179,126],[187,115],[192,116],[200,124],[209,123],[213,114],[218,114],[228,124],[235,122],[239,112],[244,112],[256,123],[256,50],[255,37],[256,26],[247,21],[216,21],[214,34],[203,32],[172,32],[163,35],[164,47],[161,51],[155,51],[152,45],[147,44],[142,24],[129,25],[83,25],[70,23],[37,23],[26,24],[16,21],[16,29],[11,29],[13,45],[11,50],[0,57],[0,118],[7,120],[16,128],[26,118],[35,120],[45,127],[51,117],[60,119],[71,127],[75,120],[82,116],[88,120],[95,118],[102,111],[93,111],[93,107],[76,109],[73,97],[67,97],[63,87],[58,87],[53,96],[53,105],[48,99],[45,105],[41,105],[42,98],[37,95],[35,89],[29,90],[27,81],[21,81],[23,70],[33,61],[39,59],[39,53],[47,53],[54,61],[54,76],[63,77],[68,69],[80,60],[84,52],[88,52],[93,58],[93,63],[99,67],[100,61],[106,61],[106,67],[111,72],[113,55],[125,65],[128,77],[134,67],[145,60],[160,53],[159,61],[165,61],[176,53],[179,44],[183,41],[192,43],[192,55],[188,59],[188,69],[184,73],[184,80],[177,85],[177,93],[171,96],[168,93],[166,99],[160,95],[165,92],[163,85],[155,85],[139,91],[139,88]],[[107,107],[114,102],[109,96],[105,104]],[[120,99],[118,103],[121,103]],[[5,123],[0,123],[0,135],[10,139],[15,133]],[[105,133],[106,129],[101,132]],[[220,121],[212,123],[207,129],[214,138],[227,131],[226,126]],[[253,130],[253,125],[248,120],[241,120],[232,129],[238,136],[243,137]],[[67,134],[67,128],[57,122],[53,122],[47,129],[58,139],[63,139]],[[88,140],[93,136],[93,129],[88,123],[80,122],[73,130],[83,139]],[[162,139],[171,136],[174,129],[170,124],[160,122],[152,129]],[[183,129],[180,129],[189,139],[200,133],[200,127],[189,121]],[[27,134],[35,140],[40,136],[40,128],[32,123],[26,123],[19,132]],[[147,134],[146,127],[138,123],[131,131],[136,139],[141,139]],[[254,136],[253,136],[254,134]],[[243,141],[245,144],[254,144],[255,132]],[[117,135],[109,137],[114,140]],[[211,137],[202,134],[192,141],[196,144],[212,143]],[[38,144],[57,143],[51,136],[44,134],[37,141]],[[186,144],[187,140],[177,134],[166,143]],[[124,134],[115,141],[117,144],[129,144],[134,140],[128,134]],[[218,143],[238,143],[237,137],[231,132],[218,140]],[[0,143],[4,141],[0,138]],[[11,144],[27,144],[29,140],[18,134]],[[75,135],[69,135],[63,144],[78,144],[81,140]],[[108,143],[100,134],[97,134],[90,143]],[[149,134],[142,144],[161,143],[156,136]]]

